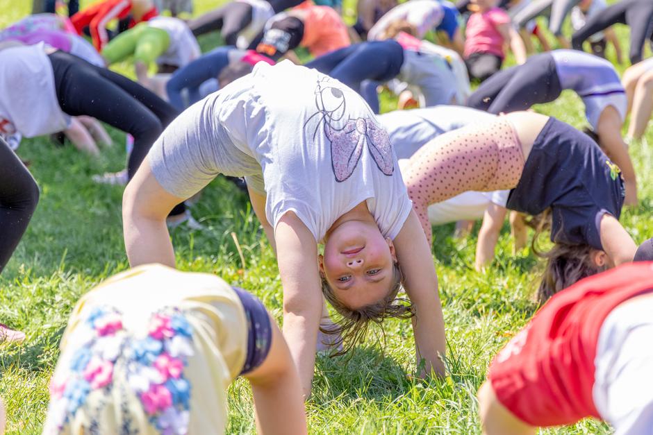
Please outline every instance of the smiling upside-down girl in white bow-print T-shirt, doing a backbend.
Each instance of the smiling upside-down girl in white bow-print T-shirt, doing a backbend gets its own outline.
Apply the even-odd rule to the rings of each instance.
[[[289,104],[288,102],[292,102]],[[369,321],[413,316],[418,361],[441,373],[443,314],[433,259],[388,135],[337,80],[290,61],[254,71],[185,110],[123,198],[129,262],[174,266],[165,216],[219,173],[246,176],[279,264],[283,332],[311,391],[324,297],[345,349]],[[317,246],[324,242],[324,255]],[[399,305],[401,285],[413,308]]]

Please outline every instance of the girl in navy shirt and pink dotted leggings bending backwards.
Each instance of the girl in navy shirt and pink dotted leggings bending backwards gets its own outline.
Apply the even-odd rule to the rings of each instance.
[[[440,135],[411,157],[408,196],[431,241],[427,207],[464,191],[511,189],[506,208],[537,215],[550,207],[546,300],[577,280],[631,262],[636,246],[618,218],[618,167],[584,133],[554,118],[513,112]]]

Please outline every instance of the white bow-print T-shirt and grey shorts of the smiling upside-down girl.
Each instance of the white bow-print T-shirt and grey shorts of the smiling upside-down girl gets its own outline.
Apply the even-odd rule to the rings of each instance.
[[[292,104],[289,103],[292,102]],[[273,228],[295,212],[316,241],[359,203],[394,239],[412,204],[385,130],[338,80],[283,61],[185,110],[152,146],[160,185],[188,198],[218,173],[263,173]]]

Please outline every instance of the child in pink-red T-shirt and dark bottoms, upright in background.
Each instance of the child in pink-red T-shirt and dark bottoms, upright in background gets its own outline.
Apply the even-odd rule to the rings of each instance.
[[[497,8],[497,0],[472,0],[474,12],[465,28],[463,57],[470,78],[481,82],[501,69],[506,57],[504,44],[510,43],[518,64],[526,62],[526,48],[511,26],[508,14]]]

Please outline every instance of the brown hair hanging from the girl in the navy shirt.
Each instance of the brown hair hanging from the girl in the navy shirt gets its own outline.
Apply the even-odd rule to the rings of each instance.
[[[550,228],[550,209],[538,216],[541,216],[541,219],[535,230],[531,246],[535,255],[547,259],[537,292],[537,299],[541,305],[554,294],[579,280],[606,270],[607,266],[595,264],[593,254],[596,249],[587,244],[572,245],[556,242],[548,252],[539,250],[536,244],[540,234]]]

